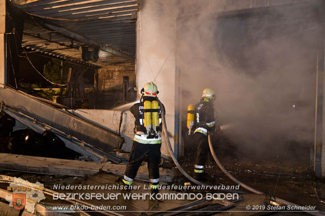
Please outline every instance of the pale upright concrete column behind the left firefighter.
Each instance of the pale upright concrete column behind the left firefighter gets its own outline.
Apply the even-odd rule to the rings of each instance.
[[[136,84],[138,93],[147,82],[158,87],[158,98],[166,108],[166,122],[174,147],[175,134],[175,42],[176,2],[173,0],[142,0],[137,19]],[[176,132],[177,134],[177,132]],[[176,148],[178,149],[178,148]],[[161,153],[169,155],[167,143]]]

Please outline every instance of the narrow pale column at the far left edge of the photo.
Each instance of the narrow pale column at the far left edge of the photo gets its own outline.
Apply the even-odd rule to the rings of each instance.
[[[0,1],[0,87],[7,82],[6,68],[6,1]]]

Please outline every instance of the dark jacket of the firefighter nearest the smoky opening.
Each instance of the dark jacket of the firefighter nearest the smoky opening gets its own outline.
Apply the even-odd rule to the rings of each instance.
[[[197,103],[194,121],[196,126],[194,133],[199,132],[208,135],[209,131],[215,131],[213,103],[206,102],[203,99]]]

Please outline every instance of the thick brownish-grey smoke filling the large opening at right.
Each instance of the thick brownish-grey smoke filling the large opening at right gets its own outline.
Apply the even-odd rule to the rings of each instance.
[[[179,3],[188,11],[188,1]],[[177,22],[183,117],[209,87],[216,92],[217,124],[232,125],[224,133],[243,149],[267,152],[288,140],[311,145],[317,34],[304,18],[309,11],[217,19],[209,10],[201,5],[197,15]]]

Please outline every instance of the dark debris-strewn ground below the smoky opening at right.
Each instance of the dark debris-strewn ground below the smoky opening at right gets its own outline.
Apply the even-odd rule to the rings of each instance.
[[[238,147],[223,138],[214,145],[214,149],[223,166],[241,182],[259,191],[271,192],[281,199],[299,205],[316,206],[318,210],[325,211],[325,204],[317,200],[314,192],[316,188],[320,198],[325,198],[325,179],[317,179],[314,176],[310,167],[309,148],[300,147],[299,151],[285,151],[290,149],[290,145],[291,143],[288,143],[288,146],[277,152],[256,156],[249,152],[237,154],[239,151],[234,149]],[[185,156],[180,160],[183,168],[192,176],[195,158],[196,147],[192,147],[185,151]],[[170,166],[176,170],[176,182],[189,182],[174,165]],[[207,154],[206,173],[208,179],[205,183],[208,185],[235,185],[218,168],[210,153]]]

